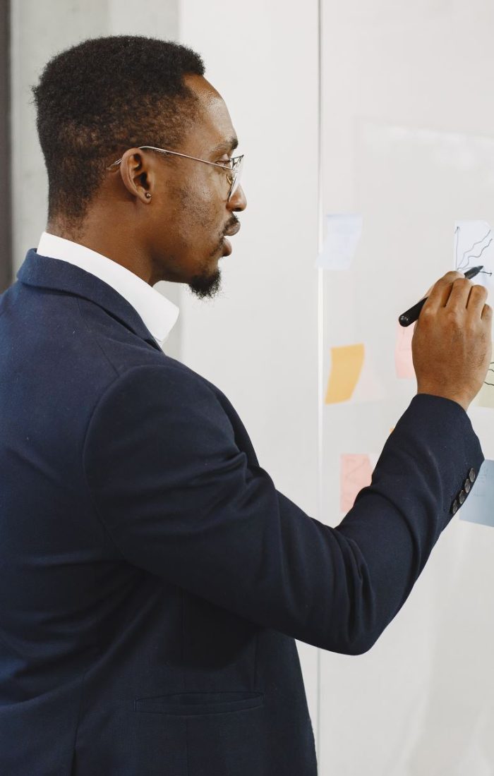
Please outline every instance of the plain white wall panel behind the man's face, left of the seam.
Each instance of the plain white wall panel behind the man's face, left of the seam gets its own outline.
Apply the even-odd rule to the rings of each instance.
[[[228,106],[248,200],[221,296],[184,291],[181,360],[226,393],[260,466],[317,517],[317,2],[182,0],[180,37]],[[297,646],[316,733],[317,650]]]

